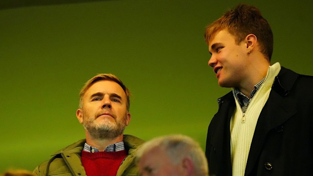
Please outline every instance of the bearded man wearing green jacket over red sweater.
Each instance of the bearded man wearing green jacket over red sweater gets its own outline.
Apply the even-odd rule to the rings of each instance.
[[[80,91],[78,121],[86,139],[58,151],[34,174],[73,176],[137,176],[137,148],[144,142],[124,135],[131,120],[130,91],[116,76],[98,74]]]

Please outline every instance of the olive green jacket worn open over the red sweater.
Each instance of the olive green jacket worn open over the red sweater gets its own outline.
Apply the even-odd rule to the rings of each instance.
[[[132,135],[124,135],[123,141],[128,156],[118,168],[116,176],[137,176],[138,168],[134,163],[135,152],[144,141]],[[79,140],[53,154],[50,160],[36,167],[34,174],[38,176],[86,176],[81,161],[81,152],[85,142],[86,139]]]

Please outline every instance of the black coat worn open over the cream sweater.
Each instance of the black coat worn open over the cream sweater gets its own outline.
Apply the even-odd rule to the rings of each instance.
[[[313,176],[313,76],[282,67],[258,118],[245,176]],[[206,157],[211,175],[231,176],[232,92],[219,99],[210,122]]]

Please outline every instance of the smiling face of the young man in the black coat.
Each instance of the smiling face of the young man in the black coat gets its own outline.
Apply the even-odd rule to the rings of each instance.
[[[208,65],[213,67],[219,86],[243,86],[249,66],[246,43],[237,44],[233,35],[227,30],[221,30],[211,36],[209,52],[212,56]]]

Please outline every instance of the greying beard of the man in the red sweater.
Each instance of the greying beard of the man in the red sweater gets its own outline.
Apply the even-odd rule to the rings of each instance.
[[[98,140],[111,140],[116,138],[117,136],[123,134],[125,127],[126,127],[126,119],[127,113],[125,116],[118,120],[114,118],[114,122],[104,119],[101,122],[95,121],[89,113],[83,110],[83,126],[85,130],[87,130],[91,137]]]

